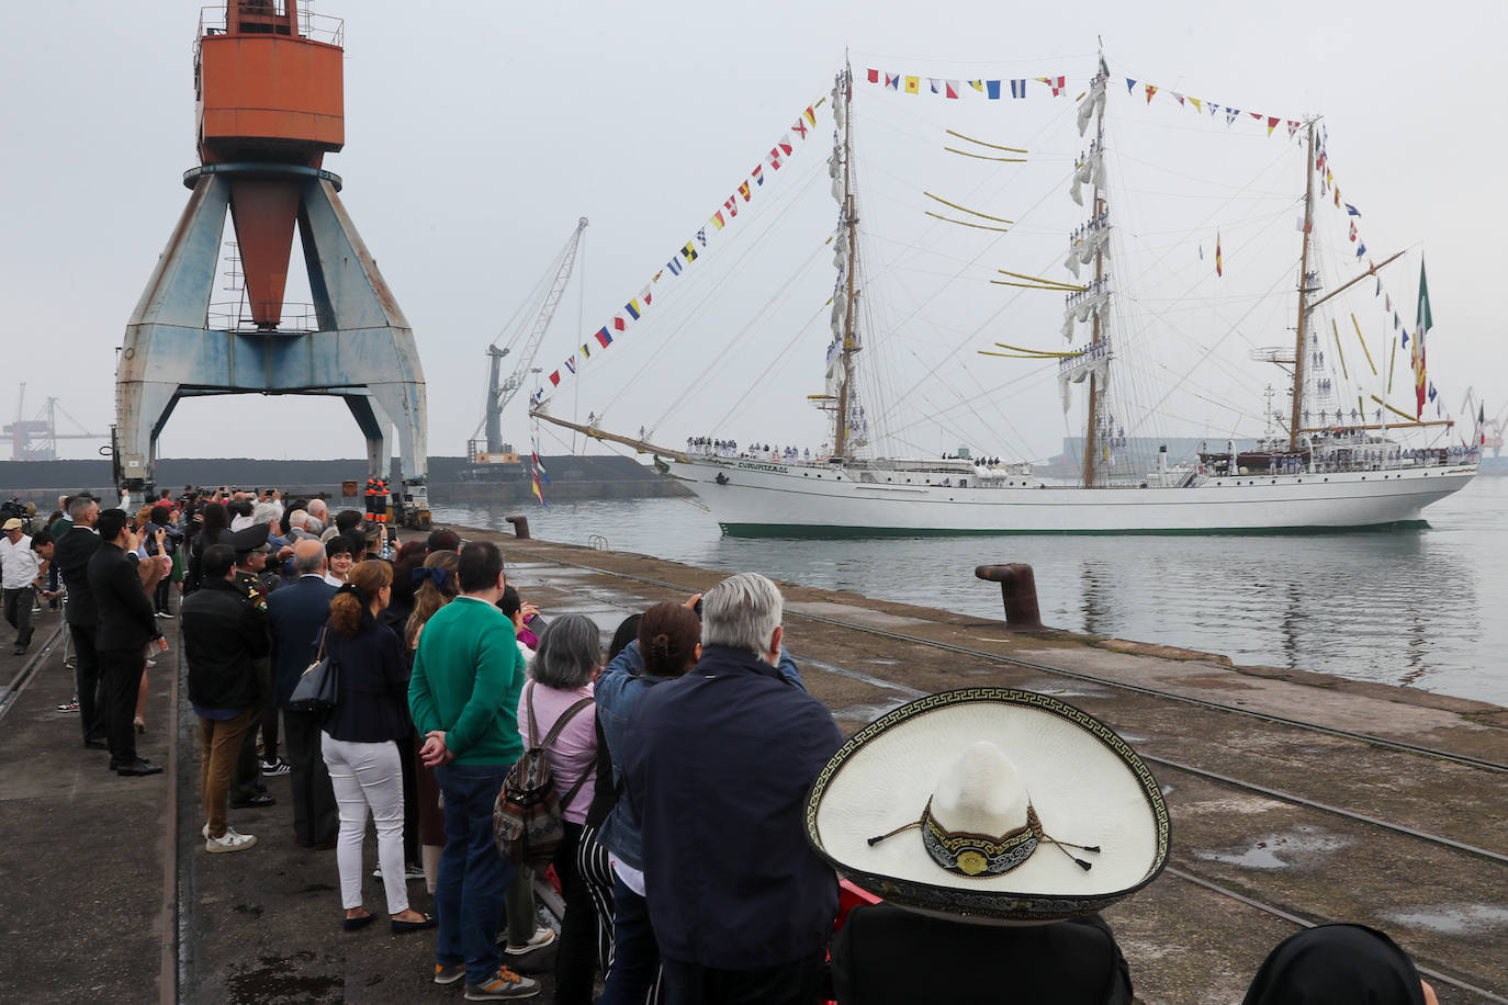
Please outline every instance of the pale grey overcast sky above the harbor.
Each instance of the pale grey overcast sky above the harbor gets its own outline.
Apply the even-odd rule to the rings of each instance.
[[[844,48],[857,78],[864,359],[878,371],[864,387],[876,428],[897,452],[970,443],[1009,457],[1056,454],[1077,432],[1077,402],[1065,417],[1054,368],[977,350],[1065,345],[1056,294],[988,279],[997,268],[1069,279],[1062,235],[1083,218],[1066,194],[1083,143],[1074,96],[1093,72],[1096,33],[1111,69],[1111,149],[1125,157],[1111,161],[1119,173],[1110,193],[1125,241],[1111,267],[1126,286],[1120,351],[1143,368],[1116,390],[1128,414],[1133,401],[1164,413],[1126,417],[1128,432],[1261,431],[1262,387],[1277,374],[1247,357],[1292,338],[1303,161],[1285,127],[1268,139],[1246,116],[1253,110],[1324,116],[1336,181],[1362,209],[1369,258],[1410,250],[1384,271],[1410,331],[1424,255],[1436,319],[1430,372],[1446,411],[1460,411],[1469,384],[1488,414],[1508,395],[1494,250],[1503,211],[1490,187],[1505,163],[1496,105],[1508,9],[1499,3],[365,0],[315,11],[347,18],[347,146],[326,167],[344,178],[351,218],[416,333],[430,454],[463,452],[481,420],[486,347],[578,217],[591,225],[537,360],[546,372],[621,313],[801,110],[828,93]],[[196,163],[199,8],[50,0],[8,5],[6,18],[0,416],[15,417],[24,381],[27,417],[57,396],[103,432],[113,422],[115,348],[185,203],[181,173]],[[872,66],[953,80],[1062,74],[1069,93],[1053,99],[1031,83],[1024,101],[971,90],[956,102],[906,96],[869,84]],[[1139,80],[1136,93],[1125,77]],[[1160,86],[1152,102],[1143,81]],[[1226,127],[1223,115],[1181,108],[1172,90],[1241,108],[1243,119]],[[949,128],[1027,148],[1028,163],[947,154]],[[805,446],[823,438],[805,398],[822,390],[828,342],[831,131],[823,107],[813,139],[798,142],[778,173],[766,166],[766,184],[740,202],[737,220],[709,235],[682,277],[654,286],[654,306],[579,380],[562,383],[558,414],[605,413],[608,428],[648,426],[665,443],[694,434]],[[997,234],[927,218],[923,211],[938,206],[924,191],[1016,226]],[[1320,259],[1327,285],[1350,274],[1348,223],[1330,206],[1316,229],[1329,241]],[[1354,310],[1369,351],[1383,357],[1390,324],[1371,282],[1363,288],[1338,322]],[[290,300],[306,297],[306,283],[290,279]],[[1360,369],[1354,338],[1342,344]],[[1405,404],[1407,383],[1407,371],[1395,375],[1389,401]],[[528,440],[522,404],[505,420],[516,444]],[[69,440],[60,452],[84,457],[97,446]],[[546,452],[567,446],[543,434]],[[247,396],[182,404],[160,452],[320,458],[360,457],[363,446],[338,399]]]

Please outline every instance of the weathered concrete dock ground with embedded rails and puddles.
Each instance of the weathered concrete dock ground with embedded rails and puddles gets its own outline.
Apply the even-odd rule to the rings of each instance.
[[[585,613],[605,633],[724,576],[498,539],[526,600],[546,616]],[[1323,921],[1389,931],[1427,976],[1443,978],[1430,978],[1442,1002],[1508,1000],[1508,710],[783,586],[787,646],[846,732],[923,693],[1007,686],[1090,711],[1148,758],[1173,815],[1172,863],[1107,912],[1139,1000],[1238,1002],[1268,948]],[[0,720],[11,765],[0,878],[21,894],[5,922],[6,1000],[449,994],[428,981],[433,933],[339,930],[333,853],[294,845],[287,779],[267,779],[277,806],[232,811],[256,848],[204,854],[193,714],[170,672],[176,645],[151,677],[143,737],[146,756],[175,758],[176,785],[109,774],[107,755],[81,747],[77,716],[54,710],[72,689],[60,642],[44,645],[54,627],[45,615],[27,657],[0,648],[0,684],[26,660],[36,669]],[[422,884],[410,895],[430,907]],[[366,897],[382,913],[377,880]],[[534,1000],[550,1000],[544,984]]]

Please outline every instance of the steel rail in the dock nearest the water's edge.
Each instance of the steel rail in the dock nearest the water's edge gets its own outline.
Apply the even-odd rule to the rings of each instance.
[[[552,562],[555,565],[567,565],[567,567],[572,567],[572,568],[581,568],[581,570],[588,570],[588,571],[593,571],[593,573],[602,573],[603,576],[614,576],[617,579],[626,579],[626,580],[632,580],[632,582],[636,582],[636,583],[645,583],[645,585],[650,585],[650,586],[662,586],[662,588],[667,588],[667,589],[680,591],[683,594],[695,594],[695,592],[698,592],[695,588],[683,586],[682,583],[671,583],[670,580],[653,579],[653,577],[648,577],[648,576],[633,576],[632,573],[620,573],[617,570],[605,570],[605,568],[600,568],[600,567],[596,567],[596,565],[587,565],[585,562],[569,562],[569,561],[556,557],[556,556],[547,556],[547,557],[537,556],[537,557],[538,557],[538,561]],[[1181,704],[1185,704],[1185,705],[1194,705],[1196,708],[1206,708],[1206,710],[1211,710],[1211,711],[1220,711],[1220,713],[1226,713],[1226,714],[1232,714],[1232,716],[1243,716],[1243,717],[1247,717],[1247,719],[1259,719],[1262,722],[1271,722],[1271,723],[1277,723],[1277,725],[1283,725],[1283,726],[1291,726],[1291,728],[1295,728],[1295,729],[1304,729],[1307,732],[1316,732],[1316,734],[1339,737],[1339,738],[1345,738],[1345,740],[1356,740],[1356,741],[1372,744],[1372,746],[1378,746],[1378,747],[1387,747],[1387,749],[1392,749],[1392,750],[1401,750],[1401,752],[1415,753],[1415,755],[1419,755],[1419,756],[1428,756],[1428,758],[1436,758],[1436,759],[1440,759],[1440,761],[1449,761],[1449,762],[1461,764],[1461,765],[1466,765],[1466,767],[1482,768],[1485,771],[1499,771],[1499,773],[1508,774],[1508,764],[1502,764],[1502,762],[1497,762],[1497,761],[1488,761],[1485,758],[1473,758],[1473,756],[1466,755],[1466,753],[1455,753],[1455,752],[1451,752],[1451,750],[1437,750],[1434,747],[1425,747],[1425,746],[1419,746],[1419,744],[1413,744],[1413,743],[1404,743],[1402,740],[1390,740],[1387,737],[1378,737],[1378,735],[1368,734],[1368,732],[1356,732],[1356,731],[1351,731],[1351,729],[1339,729],[1336,726],[1323,726],[1320,723],[1304,722],[1301,719],[1289,719],[1286,716],[1277,716],[1274,713],[1258,711],[1258,710],[1253,710],[1253,708],[1241,708],[1240,705],[1224,705],[1221,702],[1209,701],[1206,698],[1193,698],[1193,696],[1188,696],[1188,695],[1178,695],[1175,692],[1160,690],[1157,687],[1148,687],[1145,684],[1131,684],[1131,683],[1126,683],[1126,681],[1116,681],[1116,680],[1110,680],[1110,678],[1104,678],[1104,677],[1095,677],[1093,674],[1081,674],[1078,671],[1066,671],[1063,667],[1048,666],[1045,663],[1034,663],[1031,660],[1021,660],[1018,657],[1004,655],[1004,654],[1000,654],[1000,652],[989,652],[988,649],[976,649],[973,646],[955,645],[952,642],[938,642],[936,639],[924,639],[921,636],[906,634],[903,631],[890,631],[887,628],[876,628],[873,625],[864,625],[864,624],[858,624],[858,622],[854,622],[854,621],[843,621],[841,618],[828,618],[825,615],[811,615],[811,613],[802,613],[799,610],[789,610],[789,609],[786,610],[786,616],[802,618],[805,621],[814,621],[817,624],[826,624],[826,625],[832,625],[832,627],[837,627],[837,628],[847,628],[847,630],[852,630],[852,631],[861,631],[864,634],[872,634],[872,636],[878,636],[878,637],[882,637],[882,639],[891,639],[894,642],[908,642],[908,643],[912,643],[912,645],[924,645],[924,646],[930,646],[930,648],[935,648],[935,649],[941,649],[944,652],[953,652],[953,654],[958,654],[958,655],[967,655],[967,657],[971,657],[971,658],[976,658],[976,660],[988,660],[988,661],[992,661],[992,663],[1004,663],[1004,664],[1009,664],[1009,666],[1019,666],[1022,669],[1034,671],[1038,674],[1051,674],[1054,677],[1063,677],[1063,678],[1068,678],[1068,680],[1083,681],[1086,684],[1098,684],[1101,687],[1113,687],[1113,689],[1123,690],[1123,692],[1133,692],[1133,693],[1137,693],[1137,695],[1148,695],[1151,698],[1160,698],[1160,699],[1166,699],[1166,701],[1181,702]],[[893,681],[887,681],[887,686],[896,687],[896,684]],[[915,690],[915,689],[906,689],[906,690]]]

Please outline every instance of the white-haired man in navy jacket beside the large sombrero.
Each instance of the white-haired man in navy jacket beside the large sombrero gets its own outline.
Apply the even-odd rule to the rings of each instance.
[[[701,658],[645,692],[626,729],[670,1005],[819,999],[838,887],[807,845],[802,809],[843,735],[799,677],[777,669],[783,606],[756,573],[709,589]]]

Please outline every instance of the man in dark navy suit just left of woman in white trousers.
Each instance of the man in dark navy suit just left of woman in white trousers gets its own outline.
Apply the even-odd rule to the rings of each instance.
[[[330,616],[335,588],[324,582],[324,545],[299,541],[293,545],[299,579],[267,597],[267,622],[273,634],[273,689],[284,707],[284,747],[293,764],[293,829],[305,847],[333,848],[339,811],[330,771],[320,753],[324,716],[287,708],[299,677],[317,654],[320,630]]]

